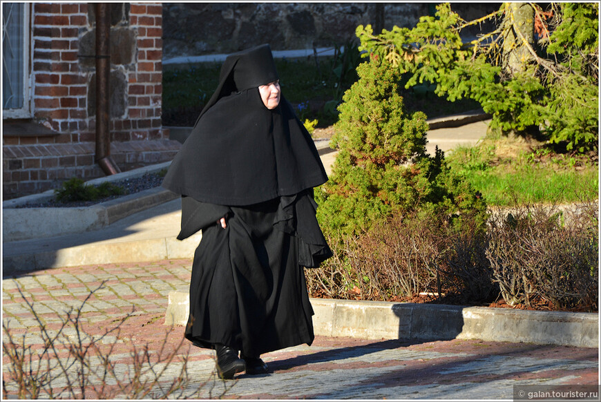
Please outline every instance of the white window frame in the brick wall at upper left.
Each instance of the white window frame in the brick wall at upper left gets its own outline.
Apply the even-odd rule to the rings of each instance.
[[[32,3],[24,3],[23,6],[23,71],[26,73],[23,77],[23,106],[21,108],[13,108],[13,109],[5,109],[4,105],[2,105],[2,118],[3,119],[28,119],[32,117],[32,64],[33,64],[33,55],[31,52],[32,49],[32,21],[31,15],[32,12]],[[3,10],[2,10],[3,12]],[[3,18],[3,17],[2,17]],[[2,19],[4,21],[4,19]],[[4,51],[4,30],[2,31],[2,51]],[[3,55],[4,57],[4,55]],[[4,66],[2,66],[4,68]],[[3,102],[4,103],[4,102]]]

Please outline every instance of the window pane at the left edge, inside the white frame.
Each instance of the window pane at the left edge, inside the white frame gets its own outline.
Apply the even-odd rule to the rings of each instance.
[[[5,109],[23,108],[25,71],[23,64],[25,35],[24,3],[3,3],[2,25],[2,63],[3,93],[2,104]]]

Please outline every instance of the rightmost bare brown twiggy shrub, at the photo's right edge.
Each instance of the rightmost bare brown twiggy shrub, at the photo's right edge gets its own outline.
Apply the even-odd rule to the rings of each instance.
[[[540,205],[497,212],[490,220],[486,256],[509,305],[542,298],[554,307],[596,309],[597,210],[573,213]]]

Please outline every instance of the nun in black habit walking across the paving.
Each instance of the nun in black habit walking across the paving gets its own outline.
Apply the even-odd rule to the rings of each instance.
[[[185,336],[216,350],[222,378],[265,373],[260,354],[311,345],[303,267],[332,256],[313,199],[326,181],[269,45],[229,55],[162,184],[182,195],[178,239],[202,229]]]

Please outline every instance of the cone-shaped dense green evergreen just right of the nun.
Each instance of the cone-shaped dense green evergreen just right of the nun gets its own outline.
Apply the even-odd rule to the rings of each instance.
[[[448,168],[441,151],[426,154],[426,115],[407,115],[390,64],[374,55],[357,73],[339,106],[332,175],[316,191],[325,232],[361,233],[398,211],[444,214],[453,222],[476,211],[484,222],[484,200]]]

